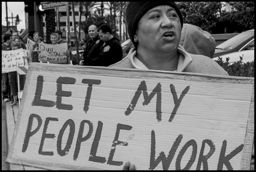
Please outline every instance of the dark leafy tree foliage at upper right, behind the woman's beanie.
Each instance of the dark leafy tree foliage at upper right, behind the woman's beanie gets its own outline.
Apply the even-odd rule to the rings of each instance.
[[[183,23],[211,34],[242,32],[254,28],[254,2],[226,2],[231,12],[221,11],[224,2],[178,2]]]

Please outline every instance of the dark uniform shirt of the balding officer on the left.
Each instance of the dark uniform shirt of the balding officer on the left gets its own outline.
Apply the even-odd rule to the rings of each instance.
[[[83,52],[84,66],[92,66],[91,62],[99,56],[103,44],[104,42],[100,39],[99,35],[86,42],[86,50]]]

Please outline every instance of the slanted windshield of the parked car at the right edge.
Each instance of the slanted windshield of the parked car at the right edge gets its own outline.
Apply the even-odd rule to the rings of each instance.
[[[234,37],[231,37],[230,39],[226,40],[222,44],[218,45],[216,49],[220,50],[228,50],[233,49],[234,47],[237,47],[241,42],[249,39],[252,35],[254,35],[254,32],[242,32]]]

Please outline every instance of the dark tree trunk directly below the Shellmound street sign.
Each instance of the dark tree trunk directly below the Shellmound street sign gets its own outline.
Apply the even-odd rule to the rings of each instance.
[[[50,36],[55,32],[55,9],[46,10],[46,43],[51,44]]]

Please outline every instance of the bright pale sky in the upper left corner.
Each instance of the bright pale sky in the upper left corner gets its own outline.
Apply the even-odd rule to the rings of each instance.
[[[21,29],[26,29],[25,24],[25,4],[24,2],[7,2],[7,8],[8,8],[8,17],[12,17],[13,15],[13,22],[16,19],[16,16],[18,14],[19,19],[22,20],[22,22],[19,22],[17,25],[17,30],[20,31]],[[2,2],[2,25],[6,26],[6,2]],[[9,18],[10,26],[12,26],[12,19]],[[15,23],[13,24],[15,26]]]

